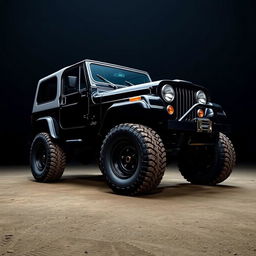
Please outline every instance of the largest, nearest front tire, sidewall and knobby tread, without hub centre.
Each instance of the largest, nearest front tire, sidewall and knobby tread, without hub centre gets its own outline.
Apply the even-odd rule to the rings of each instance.
[[[126,140],[138,149],[138,165],[131,176],[120,178],[113,159],[115,147]],[[154,190],[161,182],[166,168],[166,152],[160,136],[151,128],[139,124],[119,124],[110,130],[102,143],[99,166],[115,193],[144,194]]]

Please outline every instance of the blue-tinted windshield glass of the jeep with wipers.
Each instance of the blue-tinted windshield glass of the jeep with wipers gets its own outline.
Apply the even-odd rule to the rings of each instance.
[[[91,64],[90,67],[92,77],[97,82],[102,82],[103,78],[113,84],[125,86],[150,82],[150,78],[143,73],[99,64]]]

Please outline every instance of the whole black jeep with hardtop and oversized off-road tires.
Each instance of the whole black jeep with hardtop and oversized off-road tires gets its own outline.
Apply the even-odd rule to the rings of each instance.
[[[38,83],[32,174],[39,182],[57,181],[67,145],[83,145],[98,150],[100,170],[119,194],[155,189],[166,153],[172,152],[178,153],[179,170],[189,182],[215,185],[227,179],[235,163],[225,123],[225,112],[201,86],[152,82],[141,70],[84,60]]]

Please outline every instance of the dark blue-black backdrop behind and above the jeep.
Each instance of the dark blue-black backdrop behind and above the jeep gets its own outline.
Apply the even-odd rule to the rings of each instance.
[[[255,162],[256,1],[0,1],[0,164],[28,163],[37,81],[91,58],[207,87]]]

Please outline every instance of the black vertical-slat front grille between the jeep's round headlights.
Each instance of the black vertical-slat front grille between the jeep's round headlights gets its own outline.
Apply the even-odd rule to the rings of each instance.
[[[195,103],[195,91],[187,88],[175,88],[176,119],[182,117]],[[196,117],[196,110],[192,110],[183,120],[189,121]]]

